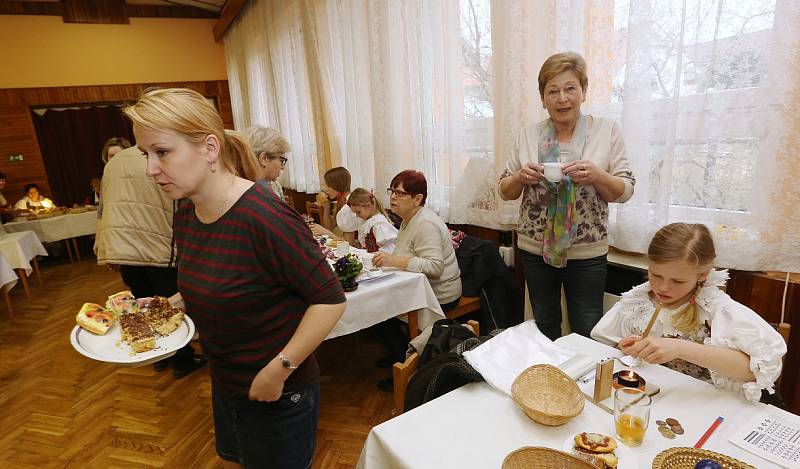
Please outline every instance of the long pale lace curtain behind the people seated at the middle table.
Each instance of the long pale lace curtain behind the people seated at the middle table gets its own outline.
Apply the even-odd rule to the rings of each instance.
[[[395,174],[422,170],[447,219],[466,164],[459,34],[457,2],[250,2],[225,36],[236,126],[286,133],[282,182],[301,191],[341,165],[387,202]]]

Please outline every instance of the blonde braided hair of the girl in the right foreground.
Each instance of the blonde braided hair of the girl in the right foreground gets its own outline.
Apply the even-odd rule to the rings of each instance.
[[[650,241],[647,259],[660,264],[686,262],[695,267],[697,273],[707,272],[717,257],[714,238],[708,228],[700,223],[672,223],[662,227]],[[698,282],[694,295],[700,291]],[[672,325],[684,334],[691,334],[699,323],[697,305],[690,301],[680,313],[672,317]]]

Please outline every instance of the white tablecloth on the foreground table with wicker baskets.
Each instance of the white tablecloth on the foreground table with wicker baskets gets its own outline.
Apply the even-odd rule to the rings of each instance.
[[[577,334],[556,342],[597,358],[621,355],[616,349]],[[720,415],[725,421],[704,448],[759,469],[778,467],[728,442],[741,425],[767,406],[749,404],[737,395],[659,365],[645,365],[637,372],[661,387],[661,393],[653,398],[644,443],[630,449],[638,459],[639,469],[650,468],[664,449],[693,446]],[[786,414],[774,407],[769,409]],[[667,417],[678,419],[686,433],[674,440],[662,437],[655,421]],[[486,383],[471,383],[373,428],[358,467],[499,468],[505,456],[517,448],[562,449],[567,438],[584,431],[614,435],[613,417],[587,400],[583,413],[572,421],[547,427],[530,420],[507,395]]]

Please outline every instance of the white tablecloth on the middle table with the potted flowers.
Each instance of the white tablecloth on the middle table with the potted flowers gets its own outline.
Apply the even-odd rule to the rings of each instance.
[[[347,309],[328,334],[328,339],[360,331],[409,311],[420,310],[420,329],[444,318],[442,307],[424,274],[387,273],[391,276],[375,283],[360,284],[356,291],[346,294]]]

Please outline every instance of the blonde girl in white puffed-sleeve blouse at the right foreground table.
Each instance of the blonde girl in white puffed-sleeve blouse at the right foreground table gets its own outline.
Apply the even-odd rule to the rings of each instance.
[[[623,293],[591,336],[758,402],[763,391],[775,392],[786,344],[758,314],[719,289],[728,273],[712,268],[715,256],[705,225],[661,228],[647,250],[649,281]],[[642,338],[654,314],[654,326]]]

